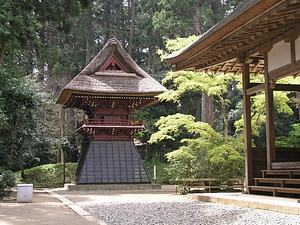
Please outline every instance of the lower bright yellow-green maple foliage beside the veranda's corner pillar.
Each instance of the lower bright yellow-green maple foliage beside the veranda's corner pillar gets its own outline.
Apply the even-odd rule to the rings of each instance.
[[[177,150],[166,154],[175,178],[244,176],[242,139],[223,137],[190,115],[161,117],[156,126],[159,131],[151,136],[150,143],[182,140]]]

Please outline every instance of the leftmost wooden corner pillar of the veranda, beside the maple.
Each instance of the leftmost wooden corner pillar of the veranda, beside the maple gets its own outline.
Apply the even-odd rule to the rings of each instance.
[[[245,166],[246,166],[246,191],[248,186],[253,185],[253,151],[252,151],[252,129],[250,95],[247,88],[250,86],[249,64],[243,63],[243,102],[244,102],[244,142],[245,142]]]

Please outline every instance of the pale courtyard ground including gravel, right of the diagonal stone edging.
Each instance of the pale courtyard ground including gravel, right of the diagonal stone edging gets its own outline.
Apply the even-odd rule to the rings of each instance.
[[[173,194],[64,194],[108,225],[300,225],[297,215],[195,202]]]

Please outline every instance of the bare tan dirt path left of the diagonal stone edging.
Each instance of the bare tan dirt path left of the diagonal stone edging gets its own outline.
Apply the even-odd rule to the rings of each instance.
[[[95,225],[51,194],[34,190],[32,203],[17,203],[16,192],[0,201],[0,225]]]

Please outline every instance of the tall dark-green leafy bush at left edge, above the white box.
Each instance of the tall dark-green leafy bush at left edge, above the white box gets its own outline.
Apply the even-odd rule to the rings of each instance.
[[[34,79],[20,71],[0,70],[0,164],[15,169],[34,159],[40,97]]]

